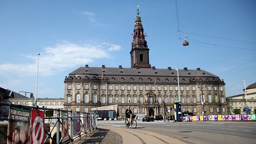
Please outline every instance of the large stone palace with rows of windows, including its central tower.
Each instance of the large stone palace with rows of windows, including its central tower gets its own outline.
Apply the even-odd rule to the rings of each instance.
[[[218,76],[200,68],[158,69],[149,64],[149,49],[138,11],[131,68],[86,65],[69,73],[64,80],[64,109],[90,112],[91,108],[117,104],[116,116],[124,116],[127,106],[139,116],[170,115],[172,111],[167,109],[172,109],[180,98],[182,112],[227,114],[225,83]]]

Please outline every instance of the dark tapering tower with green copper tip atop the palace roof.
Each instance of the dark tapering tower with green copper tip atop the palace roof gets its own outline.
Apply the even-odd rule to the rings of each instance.
[[[135,16],[135,25],[133,30],[132,50],[131,54],[131,68],[151,68],[149,64],[149,49],[147,41],[144,36],[144,29],[141,24],[141,16],[139,12],[139,6],[137,6],[137,12]]]

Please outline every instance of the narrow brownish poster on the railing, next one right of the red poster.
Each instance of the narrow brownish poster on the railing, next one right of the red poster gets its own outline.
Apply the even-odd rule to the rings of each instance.
[[[62,143],[69,139],[68,111],[61,112]]]

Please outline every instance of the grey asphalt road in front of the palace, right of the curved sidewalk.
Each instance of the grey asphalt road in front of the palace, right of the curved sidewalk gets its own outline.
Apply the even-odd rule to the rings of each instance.
[[[171,136],[190,144],[255,144],[256,122],[250,121],[212,121],[212,122],[176,122],[137,121],[137,130],[151,131]],[[124,121],[98,121],[98,125],[124,127]]]

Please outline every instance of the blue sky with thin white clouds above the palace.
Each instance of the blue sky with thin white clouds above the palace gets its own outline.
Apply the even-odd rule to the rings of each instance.
[[[0,0],[0,87],[64,98],[77,68],[130,68],[138,5],[151,66],[201,68],[226,97],[256,82],[255,0]]]

